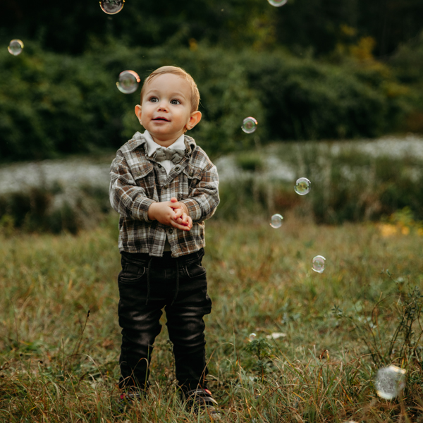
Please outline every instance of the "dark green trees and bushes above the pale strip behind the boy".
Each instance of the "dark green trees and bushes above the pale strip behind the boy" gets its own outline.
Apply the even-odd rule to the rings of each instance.
[[[174,64],[192,73],[204,120],[192,135],[216,157],[262,142],[423,131],[420,1],[11,0],[0,17],[0,160],[116,149],[140,129],[139,92],[115,82]],[[6,50],[21,38],[20,56]],[[257,133],[258,134],[258,133]]]

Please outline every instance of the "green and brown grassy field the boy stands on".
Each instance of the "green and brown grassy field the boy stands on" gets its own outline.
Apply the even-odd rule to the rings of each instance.
[[[207,222],[207,354],[221,421],[422,422],[423,237],[284,218],[279,229],[267,216]],[[147,400],[116,413],[116,226],[113,214],[77,236],[0,235],[1,422],[209,421],[178,400],[166,326]],[[323,274],[311,270],[315,255],[326,257]],[[391,363],[407,369],[407,387],[387,401],[372,381]]]

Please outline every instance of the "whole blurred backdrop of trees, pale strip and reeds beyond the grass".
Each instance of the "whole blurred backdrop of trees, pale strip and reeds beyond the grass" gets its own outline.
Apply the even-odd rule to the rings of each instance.
[[[1,10],[4,232],[75,233],[109,212],[110,161],[141,130],[140,88],[122,94],[118,75],[143,80],[168,64],[200,89],[190,135],[221,173],[218,216],[423,219],[421,0],[126,0],[113,16],[98,1],[8,0]],[[16,38],[25,48],[13,56]],[[254,134],[240,130],[246,116]],[[320,187],[307,206],[293,191],[300,176]]]

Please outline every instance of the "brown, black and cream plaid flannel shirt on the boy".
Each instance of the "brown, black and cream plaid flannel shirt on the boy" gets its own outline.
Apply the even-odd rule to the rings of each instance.
[[[172,257],[187,255],[204,247],[204,220],[219,204],[219,177],[203,149],[185,135],[185,157],[169,174],[161,164],[147,156],[142,134],[135,133],[111,163],[109,198],[119,219],[119,250],[143,252],[161,257],[166,237]],[[188,207],[190,231],[166,226],[148,218],[153,202],[176,197]]]

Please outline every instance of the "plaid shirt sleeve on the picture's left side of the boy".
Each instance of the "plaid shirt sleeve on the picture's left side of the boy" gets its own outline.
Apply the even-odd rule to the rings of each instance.
[[[135,183],[121,150],[110,166],[109,199],[111,207],[121,216],[151,222],[148,209],[154,200],[149,199],[145,189]]]

